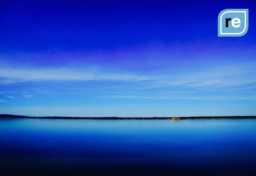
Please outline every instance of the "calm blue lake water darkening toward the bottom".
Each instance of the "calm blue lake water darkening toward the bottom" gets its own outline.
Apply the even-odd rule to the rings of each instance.
[[[256,119],[0,119],[0,175],[255,175]]]

